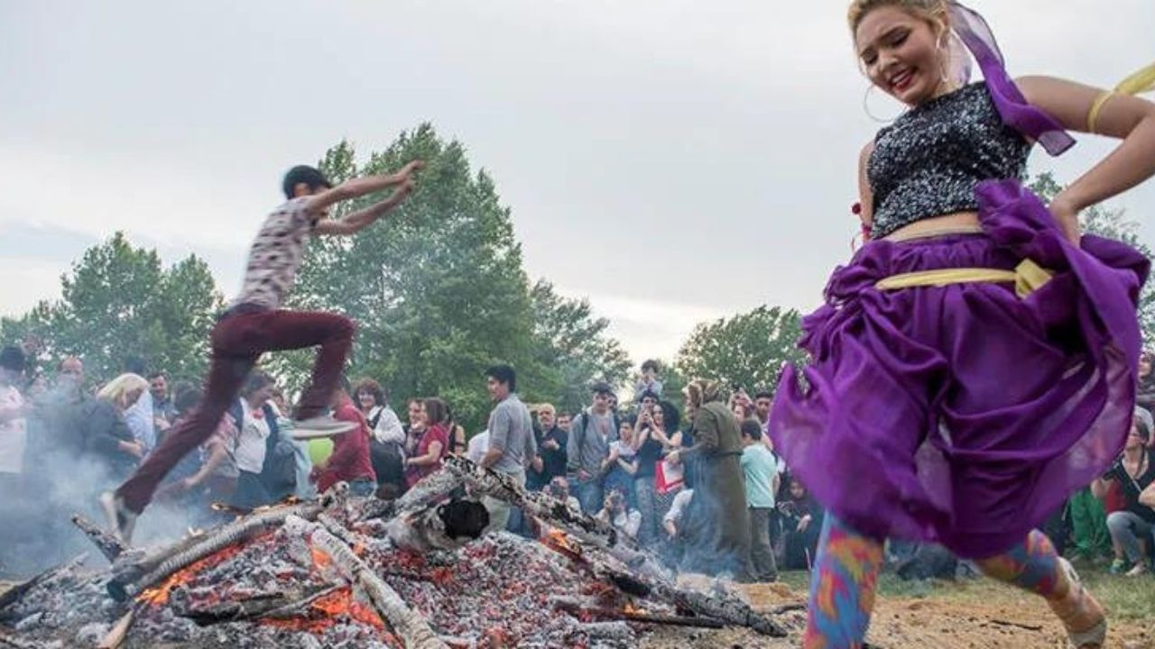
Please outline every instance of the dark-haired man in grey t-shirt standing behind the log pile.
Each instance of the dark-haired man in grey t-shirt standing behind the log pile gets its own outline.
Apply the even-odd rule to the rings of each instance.
[[[490,443],[482,467],[493,469],[526,485],[526,465],[537,455],[534,423],[529,409],[517,397],[517,376],[513,367],[495,365],[485,372],[490,398],[497,404],[490,413]],[[509,522],[509,503],[490,497],[482,499],[490,512],[490,530],[504,530]]]

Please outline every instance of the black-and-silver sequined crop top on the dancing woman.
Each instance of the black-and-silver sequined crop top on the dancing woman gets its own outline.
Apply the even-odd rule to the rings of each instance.
[[[979,181],[1022,179],[1030,143],[1003,124],[982,82],[903,113],[879,130],[866,163],[871,238],[923,218],[978,209]]]

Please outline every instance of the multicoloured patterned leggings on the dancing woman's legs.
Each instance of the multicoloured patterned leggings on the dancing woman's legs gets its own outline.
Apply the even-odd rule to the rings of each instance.
[[[977,561],[996,580],[1043,596],[1066,598],[1071,582],[1050,539],[1031,531],[1004,554]],[[882,544],[827,515],[811,573],[810,606],[803,647],[851,649],[863,646],[874,607]],[[1053,607],[1053,605],[1052,605]]]

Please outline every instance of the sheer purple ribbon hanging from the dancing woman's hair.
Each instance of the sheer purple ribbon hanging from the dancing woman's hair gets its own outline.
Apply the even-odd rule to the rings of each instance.
[[[949,7],[951,27],[978,61],[1003,122],[1042,144],[1052,156],[1070,149],[1075,143],[1074,137],[1055,118],[1027,103],[1022,91],[1011,80],[999,44],[983,16],[954,0]]]

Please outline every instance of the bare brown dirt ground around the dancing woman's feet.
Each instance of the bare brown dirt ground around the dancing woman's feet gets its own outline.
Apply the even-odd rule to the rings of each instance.
[[[1097,584],[1096,584],[1097,585]],[[1155,594],[1155,580],[1134,588],[1150,589]],[[760,611],[772,611],[778,606],[799,604],[805,599],[800,587],[788,584],[738,585],[751,605]],[[988,580],[963,583],[938,584],[925,594],[916,596],[882,596],[874,609],[867,641],[879,649],[1026,649],[1068,647],[1063,627],[1051,617],[1046,605],[1037,597],[1020,594],[1008,587]],[[1126,592],[1112,592],[1104,585],[1104,597],[1110,616],[1110,632],[1106,643],[1111,649],[1155,649],[1155,609],[1142,605],[1146,611],[1127,609],[1120,614],[1111,610],[1112,599],[1124,607]],[[1093,588],[1093,591],[1097,591]],[[673,648],[726,648],[747,649],[755,647],[787,648],[798,646],[798,633],[804,624],[804,613],[783,614],[783,621],[793,627],[791,637],[773,640],[760,637],[745,631],[693,631],[661,629],[647,637],[646,649]],[[1122,618],[1122,619],[1120,619]]]

